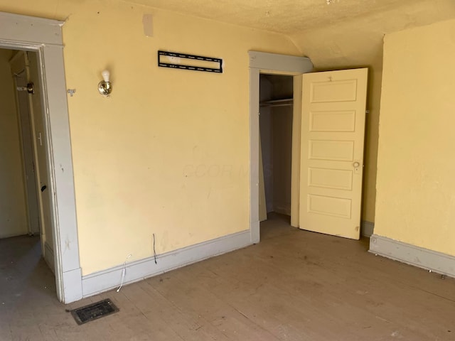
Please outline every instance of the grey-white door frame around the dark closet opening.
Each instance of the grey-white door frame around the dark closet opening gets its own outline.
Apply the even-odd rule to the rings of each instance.
[[[259,231],[259,75],[294,76],[291,164],[291,225],[299,226],[299,173],[301,130],[301,75],[313,70],[307,57],[250,51],[250,235],[260,240]]]

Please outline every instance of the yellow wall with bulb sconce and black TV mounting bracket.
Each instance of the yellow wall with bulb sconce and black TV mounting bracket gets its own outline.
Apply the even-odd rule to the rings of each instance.
[[[298,54],[288,38],[123,1],[0,0],[0,11],[67,18],[82,274],[151,256],[153,233],[161,254],[249,228],[247,52]],[[224,73],[157,67],[160,49],[223,58]]]

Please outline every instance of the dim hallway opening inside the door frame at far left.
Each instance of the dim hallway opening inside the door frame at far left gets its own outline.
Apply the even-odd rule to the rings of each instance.
[[[0,68],[4,74],[0,81],[4,91],[0,97],[5,108],[0,130],[4,144],[13,151],[0,151],[6,170],[1,174],[1,182],[10,183],[14,175],[21,179],[0,194],[2,201],[14,198],[11,207],[13,219],[2,222],[0,237],[23,234],[38,236],[41,255],[54,271],[53,228],[50,219],[53,207],[48,190],[50,161],[43,124],[43,91],[38,72],[38,53],[1,49],[0,56]],[[26,222],[26,229],[22,227],[23,221]]]

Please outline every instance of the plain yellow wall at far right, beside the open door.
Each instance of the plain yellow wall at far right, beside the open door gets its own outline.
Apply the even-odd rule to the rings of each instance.
[[[455,255],[455,20],[384,43],[375,234]]]

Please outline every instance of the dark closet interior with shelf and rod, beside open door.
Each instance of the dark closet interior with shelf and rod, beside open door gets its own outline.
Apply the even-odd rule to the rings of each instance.
[[[292,121],[293,76],[259,75],[261,238],[291,222]]]

